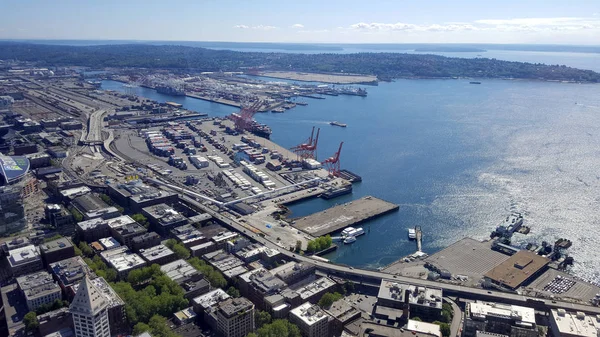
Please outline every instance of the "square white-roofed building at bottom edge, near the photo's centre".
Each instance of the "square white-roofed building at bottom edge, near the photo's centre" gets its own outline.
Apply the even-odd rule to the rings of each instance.
[[[296,324],[302,336],[329,337],[329,316],[317,305],[304,303],[290,311],[290,322]]]

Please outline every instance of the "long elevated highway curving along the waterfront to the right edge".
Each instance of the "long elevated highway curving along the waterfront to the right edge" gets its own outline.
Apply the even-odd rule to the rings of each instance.
[[[171,191],[178,193],[178,191],[176,189],[174,189],[172,187],[172,185],[170,185],[170,186],[168,186],[168,185],[170,185],[170,184],[165,184],[165,183],[161,184],[161,186],[163,188],[170,189]],[[180,189],[180,188],[177,187],[177,189]],[[430,281],[430,280],[423,280],[423,279],[414,279],[414,278],[410,278],[410,277],[393,275],[393,274],[388,274],[388,273],[375,271],[375,270],[359,269],[359,268],[354,268],[354,267],[350,267],[350,266],[333,264],[330,262],[316,261],[314,259],[295,254],[294,252],[291,252],[285,248],[282,248],[279,245],[265,239],[264,237],[262,237],[259,234],[254,234],[244,224],[238,222],[235,219],[225,217],[223,214],[210,209],[209,207],[201,204],[200,202],[196,201],[195,199],[192,199],[190,197],[187,197],[187,196],[181,195],[181,194],[180,194],[180,198],[182,200],[184,200],[185,202],[187,202],[191,205],[194,205],[198,209],[201,209],[204,212],[210,214],[215,219],[217,219],[221,223],[228,225],[229,227],[236,230],[237,232],[243,233],[244,235],[251,238],[252,240],[259,242],[267,247],[277,249],[281,254],[287,256],[288,259],[296,260],[296,261],[302,262],[302,263],[314,264],[314,265],[316,265],[317,269],[319,269],[321,272],[323,272],[327,275],[330,275],[330,276],[342,277],[342,278],[349,279],[356,283],[365,283],[365,284],[378,284],[378,282],[380,282],[382,279],[389,279],[389,280],[395,280],[400,283],[406,283],[406,284],[411,284],[411,285],[424,286],[424,287],[430,287],[430,288],[441,288],[444,291],[444,296],[456,296],[459,298],[465,298],[465,299],[471,299],[471,300],[484,300],[484,301],[490,301],[490,302],[521,305],[521,306],[532,307],[532,308],[535,308],[538,310],[563,308],[567,311],[582,311],[582,312],[585,312],[588,314],[593,314],[593,315],[600,314],[600,308],[594,307],[591,305],[575,304],[575,303],[564,302],[564,301],[552,301],[552,300],[546,300],[546,299],[537,299],[534,297],[528,297],[528,296],[523,296],[523,295],[514,294],[514,293],[493,291],[493,290],[480,289],[480,288],[471,288],[471,287],[465,287],[465,286],[460,286],[460,285],[454,285],[454,284],[448,284],[448,283],[444,283],[444,282],[437,282],[437,281]]]

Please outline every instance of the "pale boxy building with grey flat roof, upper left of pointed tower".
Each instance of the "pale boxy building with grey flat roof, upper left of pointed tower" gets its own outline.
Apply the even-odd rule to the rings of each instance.
[[[35,311],[41,305],[49,305],[61,299],[60,286],[54,283],[52,275],[46,271],[38,271],[18,277],[17,284],[25,297],[29,311]]]

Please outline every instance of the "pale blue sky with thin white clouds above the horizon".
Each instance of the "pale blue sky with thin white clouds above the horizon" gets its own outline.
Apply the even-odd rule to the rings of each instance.
[[[600,45],[600,0],[0,0],[0,39]]]

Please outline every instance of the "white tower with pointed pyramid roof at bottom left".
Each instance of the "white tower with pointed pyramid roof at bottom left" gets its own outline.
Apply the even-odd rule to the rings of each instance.
[[[75,337],[110,337],[108,301],[86,276],[71,302]]]

